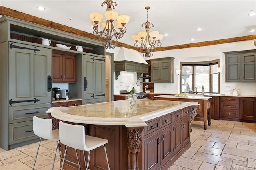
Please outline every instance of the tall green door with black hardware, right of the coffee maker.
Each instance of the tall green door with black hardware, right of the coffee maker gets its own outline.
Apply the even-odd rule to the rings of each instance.
[[[83,55],[83,100],[105,98],[105,58]]]

